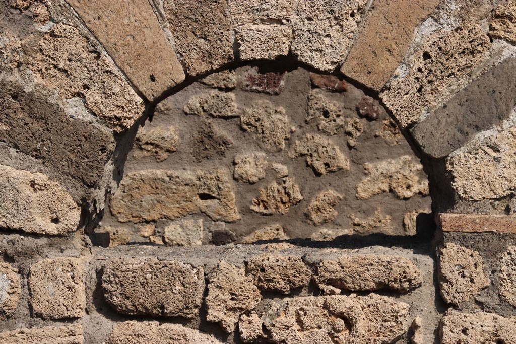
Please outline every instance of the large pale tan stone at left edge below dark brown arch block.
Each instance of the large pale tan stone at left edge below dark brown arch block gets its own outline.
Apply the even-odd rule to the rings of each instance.
[[[0,227],[65,235],[77,229],[80,209],[72,196],[42,173],[0,165]]]

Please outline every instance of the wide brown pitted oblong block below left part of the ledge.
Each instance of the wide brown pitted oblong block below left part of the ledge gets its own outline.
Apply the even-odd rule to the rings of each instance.
[[[156,258],[111,260],[102,275],[104,299],[128,315],[194,318],[204,286],[202,267]]]

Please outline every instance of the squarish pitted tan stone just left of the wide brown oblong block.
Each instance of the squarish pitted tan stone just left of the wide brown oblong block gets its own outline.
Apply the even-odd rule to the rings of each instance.
[[[84,316],[84,265],[81,258],[48,258],[31,266],[29,290],[34,314],[45,319]]]

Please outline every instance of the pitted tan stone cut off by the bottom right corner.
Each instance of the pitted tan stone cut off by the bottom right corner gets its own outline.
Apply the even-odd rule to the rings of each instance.
[[[441,344],[516,342],[516,317],[449,310],[441,320]]]

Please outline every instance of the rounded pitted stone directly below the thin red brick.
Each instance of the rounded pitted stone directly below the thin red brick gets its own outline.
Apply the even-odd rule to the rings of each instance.
[[[455,305],[473,300],[490,284],[478,252],[451,242],[441,249],[438,272],[441,296]]]

